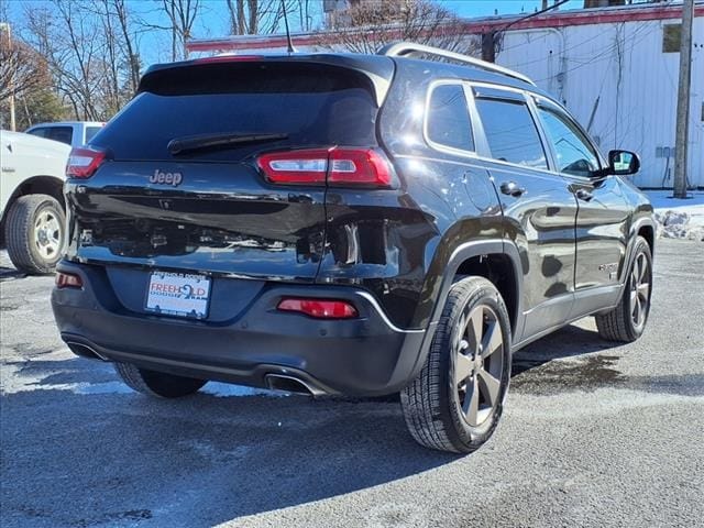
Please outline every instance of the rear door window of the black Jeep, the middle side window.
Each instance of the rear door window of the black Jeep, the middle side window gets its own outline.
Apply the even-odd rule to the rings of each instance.
[[[477,99],[476,109],[492,157],[532,168],[548,168],[538,129],[525,102]]]

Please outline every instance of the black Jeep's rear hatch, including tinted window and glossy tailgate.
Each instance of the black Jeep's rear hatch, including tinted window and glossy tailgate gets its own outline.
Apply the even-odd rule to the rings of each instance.
[[[261,160],[376,147],[393,63],[371,65],[324,55],[215,57],[150,70],[90,142],[105,161],[67,185],[68,257],[107,264],[112,274],[127,272],[111,265],[127,265],[314,282],[327,180],[273,182]],[[286,160],[276,166],[310,168]]]

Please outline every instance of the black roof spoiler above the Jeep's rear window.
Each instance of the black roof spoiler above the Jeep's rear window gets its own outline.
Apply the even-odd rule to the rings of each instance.
[[[310,55],[216,55],[212,57],[196,58],[193,61],[182,61],[177,63],[155,64],[150,66],[140,80],[138,94],[150,91],[158,78],[166,73],[172,73],[180,68],[208,68],[215,64],[252,64],[252,63],[301,63],[317,64],[334,68],[343,68],[363,74],[369,78],[376,103],[381,108],[386,99],[392,79],[394,77],[395,64],[389,57],[377,55],[353,55],[353,54],[310,54]]]

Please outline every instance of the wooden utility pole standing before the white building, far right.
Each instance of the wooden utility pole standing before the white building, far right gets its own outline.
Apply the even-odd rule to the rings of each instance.
[[[692,21],[694,0],[682,4],[680,42],[680,87],[678,89],[678,124],[674,138],[673,197],[686,198],[688,141],[690,138],[690,88],[692,86]]]

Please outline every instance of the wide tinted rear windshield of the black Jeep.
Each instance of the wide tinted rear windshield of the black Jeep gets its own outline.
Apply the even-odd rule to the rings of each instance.
[[[374,146],[377,108],[369,78],[315,64],[204,64],[148,75],[90,142],[114,160],[240,161],[277,147]],[[174,139],[288,134],[265,144],[172,155]]]

